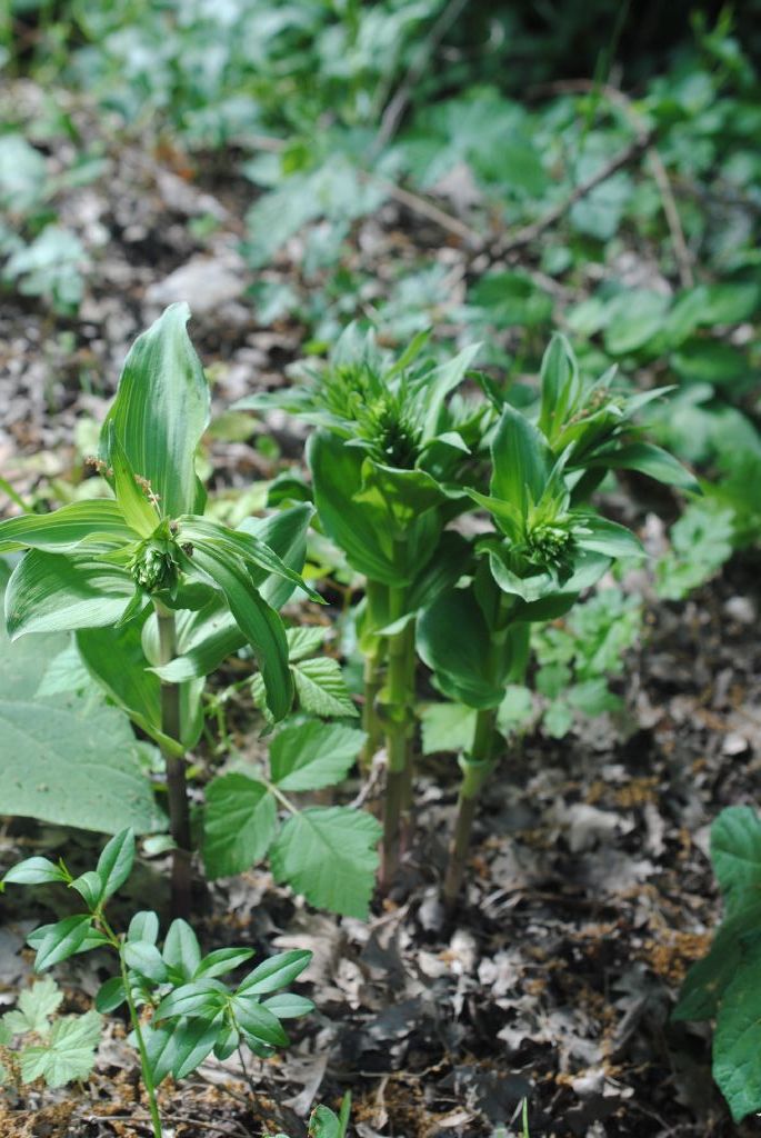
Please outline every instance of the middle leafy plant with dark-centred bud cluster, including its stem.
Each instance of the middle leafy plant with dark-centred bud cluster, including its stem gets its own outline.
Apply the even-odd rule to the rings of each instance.
[[[365,575],[358,613],[365,655],[367,753],[384,736],[388,760],[382,882],[398,860],[408,799],[414,726],[414,621],[422,605],[457,580],[468,543],[445,527],[471,509],[464,489],[481,461],[491,411],[456,389],[478,346],[438,364],[416,337],[395,362],[351,325],[325,369],[286,391],[255,395],[238,407],[276,406],[317,429],[307,444],[314,502],[325,534]]]

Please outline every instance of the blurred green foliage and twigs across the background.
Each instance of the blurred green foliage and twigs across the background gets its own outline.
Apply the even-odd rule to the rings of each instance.
[[[354,319],[389,346],[431,327],[441,352],[481,339],[526,404],[561,328],[590,373],[673,385],[655,430],[706,494],[662,595],[758,544],[761,0],[10,0],[0,19],[0,273],[59,345],[129,229],[68,204],[118,196],[137,149],[224,204],[184,217],[189,253],[232,241],[251,327],[300,352]],[[164,254],[130,256],[160,280]]]

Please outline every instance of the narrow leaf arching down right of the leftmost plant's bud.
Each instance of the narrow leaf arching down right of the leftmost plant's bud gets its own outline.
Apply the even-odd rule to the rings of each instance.
[[[282,719],[293,701],[293,681],[288,667],[288,642],[282,620],[251,588],[248,574],[237,558],[204,543],[196,546],[192,563],[224,593],[230,611],[254,650],[264,678],[267,707],[275,720]]]

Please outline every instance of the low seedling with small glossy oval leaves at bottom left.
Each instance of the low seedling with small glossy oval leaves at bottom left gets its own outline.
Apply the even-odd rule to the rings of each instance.
[[[288,1045],[282,1021],[306,1015],[314,1005],[292,992],[273,993],[304,971],[312,954],[280,953],[259,964],[240,983],[230,984],[221,976],[246,964],[254,955],[251,949],[221,948],[202,956],[196,933],[182,920],[172,922],[159,948],[159,922],[152,912],[137,913],[126,933],[117,933],[106,916],[106,906],[130,876],[133,863],[134,835],[125,830],[108,842],[96,868],[77,877],[63,860],[53,864],[48,858],[33,857],[9,869],[0,888],[59,883],[82,898],[82,913],[30,934],[27,943],[36,953],[34,967],[43,972],[74,954],[94,948],[116,954],[118,975],[102,984],[96,1009],[109,1014],[126,1005],[154,1138],[162,1138],[156,1088],[167,1075],[183,1079],[212,1052],[224,1059],[242,1044],[259,1056],[272,1055],[275,1047]],[[24,1078],[23,1055],[20,1062]],[[31,1070],[39,1067],[40,1073],[51,1069],[51,1059],[41,1055],[34,1055],[30,1063]],[[71,1064],[65,1070],[69,1071]],[[82,1070],[75,1077],[83,1078],[85,1073]]]

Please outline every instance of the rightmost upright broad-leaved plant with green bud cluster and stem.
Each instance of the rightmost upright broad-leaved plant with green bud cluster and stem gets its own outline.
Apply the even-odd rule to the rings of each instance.
[[[619,556],[639,556],[638,539],[597,514],[588,495],[606,469],[636,469],[696,489],[665,452],[632,440],[630,415],[659,393],[611,396],[612,374],[581,381],[570,346],[551,344],[541,374],[538,426],[505,404],[491,438],[489,494],[471,489],[495,529],[474,545],[471,580],[449,588],[423,612],[417,645],[441,691],[477,710],[444,887],[452,908],[462,884],[475,801],[496,766],[497,708],[522,678],[529,625],[568,612]],[[456,629],[456,637],[452,630]]]

